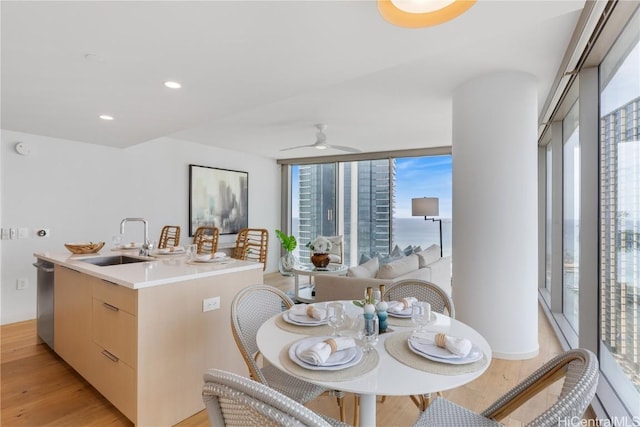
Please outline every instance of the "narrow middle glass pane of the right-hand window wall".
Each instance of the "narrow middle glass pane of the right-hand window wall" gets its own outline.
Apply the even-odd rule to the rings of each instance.
[[[578,102],[562,121],[562,312],[578,333],[580,277],[580,135]]]

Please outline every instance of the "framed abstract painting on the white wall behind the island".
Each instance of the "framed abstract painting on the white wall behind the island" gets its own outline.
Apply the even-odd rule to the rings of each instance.
[[[189,165],[189,236],[200,226],[236,234],[249,224],[249,173]]]

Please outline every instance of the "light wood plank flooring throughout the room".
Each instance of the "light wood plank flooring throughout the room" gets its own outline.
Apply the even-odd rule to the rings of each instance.
[[[283,290],[293,289],[293,280],[279,273],[265,275],[265,283]],[[529,360],[494,359],[477,380],[444,393],[454,402],[480,411],[521,381],[545,361],[562,352],[546,317],[539,311],[540,354]],[[4,325],[1,342],[1,425],[2,426],[131,426],[106,401],[46,345],[38,344],[35,321]],[[521,426],[552,401],[558,388],[546,391],[527,407],[505,420],[507,426]],[[353,396],[347,395],[347,421],[352,422]],[[308,404],[323,414],[338,417],[335,399],[322,396]],[[388,397],[378,403],[377,425],[411,426],[418,409],[408,397]],[[202,411],[178,424],[181,427],[207,426]]]

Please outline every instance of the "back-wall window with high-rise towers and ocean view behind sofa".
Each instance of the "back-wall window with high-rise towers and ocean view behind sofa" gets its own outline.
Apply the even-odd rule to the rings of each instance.
[[[315,159],[318,160],[318,159]],[[320,159],[321,160],[321,159]],[[445,255],[451,253],[451,155],[390,157],[296,164],[288,223],[303,262],[305,244],[317,235],[342,235],[344,263],[356,265],[398,245],[439,243],[439,224],[411,216],[411,199],[438,197]]]

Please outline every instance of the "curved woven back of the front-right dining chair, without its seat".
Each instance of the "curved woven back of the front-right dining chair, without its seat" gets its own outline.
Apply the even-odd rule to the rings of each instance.
[[[582,348],[569,350],[549,360],[481,415],[499,421],[563,379],[558,399],[527,426],[551,427],[562,420],[580,419],[595,396],[598,376],[598,359],[593,352]]]

